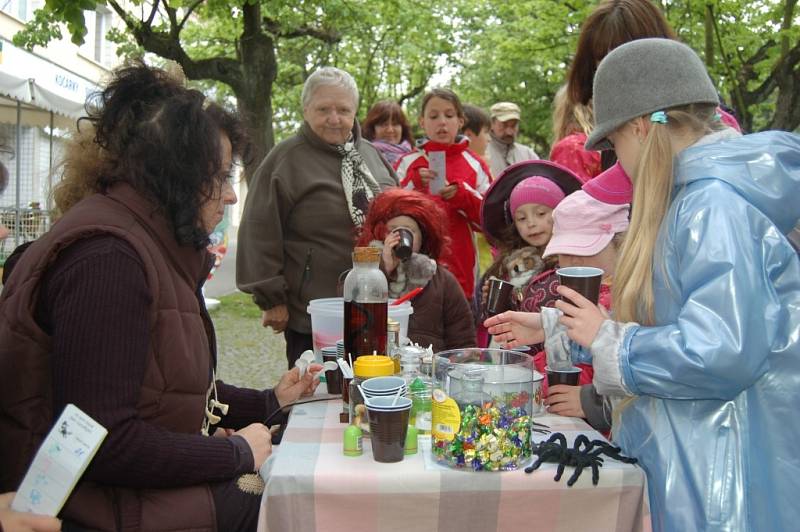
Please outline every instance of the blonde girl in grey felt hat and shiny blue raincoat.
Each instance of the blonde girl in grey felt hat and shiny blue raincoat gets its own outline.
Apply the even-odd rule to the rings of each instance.
[[[557,303],[615,396],[613,439],[647,473],[655,531],[800,526],[800,137],[741,136],[687,46],[622,45],[594,81],[587,149],[632,177],[614,316],[565,287]],[[510,346],[539,314],[487,320]]]

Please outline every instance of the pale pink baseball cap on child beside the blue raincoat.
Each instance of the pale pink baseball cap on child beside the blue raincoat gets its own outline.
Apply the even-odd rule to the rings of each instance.
[[[542,256],[597,255],[628,229],[629,210],[627,203],[606,203],[583,190],[570,194],[553,210],[553,236]]]

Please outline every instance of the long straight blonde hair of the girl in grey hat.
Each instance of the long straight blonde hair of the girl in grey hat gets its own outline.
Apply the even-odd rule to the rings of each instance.
[[[656,240],[672,198],[673,135],[695,139],[724,126],[715,120],[716,106],[690,104],[666,111],[667,123],[653,123],[644,140],[633,181],[631,223],[614,275],[612,295],[616,321],[655,323],[653,270]],[[663,267],[663,263],[662,267]]]

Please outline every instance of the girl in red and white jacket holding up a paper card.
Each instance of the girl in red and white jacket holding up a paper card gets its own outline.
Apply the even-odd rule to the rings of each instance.
[[[442,262],[470,299],[478,264],[473,231],[480,231],[481,200],[491,182],[489,167],[469,149],[469,141],[458,135],[464,110],[453,91],[427,93],[419,124],[425,132],[417,144],[420,149],[403,156],[395,170],[402,187],[429,194],[444,208],[452,245]]]

